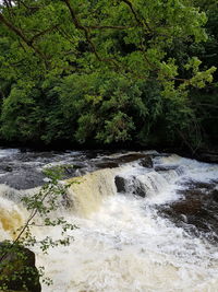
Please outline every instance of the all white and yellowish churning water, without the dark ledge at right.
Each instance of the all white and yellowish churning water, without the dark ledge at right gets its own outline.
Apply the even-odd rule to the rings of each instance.
[[[74,241],[51,248],[47,256],[35,249],[37,266],[45,266],[53,285],[44,292],[217,292],[218,248],[187,234],[157,207],[175,201],[184,178],[210,182],[218,178],[218,165],[178,155],[156,156],[155,165],[173,166],[156,172],[138,162],[87,174],[72,185],[74,210],[62,210],[76,224]],[[124,178],[125,191],[117,192],[114,177]],[[133,195],[143,188],[146,197]],[[0,241],[25,221],[24,209],[9,187],[0,197]],[[14,190],[19,196],[19,191]],[[59,227],[35,229],[38,237],[56,237]]]

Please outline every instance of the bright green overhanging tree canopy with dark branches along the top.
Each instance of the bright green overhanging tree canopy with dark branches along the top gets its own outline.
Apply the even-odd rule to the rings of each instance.
[[[44,72],[109,67],[137,79],[154,75],[162,83],[175,79],[182,82],[177,78],[177,60],[169,58],[166,50],[174,39],[206,39],[202,28],[205,13],[185,2],[4,1],[0,22],[15,40],[16,61],[23,62],[28,73],[26,65],[32,70],[35,62]],[[15,56],[10,57],[8,60],[14,62]],[[194,69],[191,62],[189,69]],[[36,72],[34,68],[34,78]],[[206,77],[201,77],[204,82]]]

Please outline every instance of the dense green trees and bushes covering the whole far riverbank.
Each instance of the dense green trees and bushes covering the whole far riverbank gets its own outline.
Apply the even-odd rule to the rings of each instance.
[[[1,138],[215,143],[217,15],[213,0],[3,1]]]

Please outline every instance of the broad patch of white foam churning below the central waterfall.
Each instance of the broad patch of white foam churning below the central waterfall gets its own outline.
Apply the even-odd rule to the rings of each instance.
[[[88,220],[72,220],[80,230],[71,246],[38,257],[56,291],[216,291],[216,248],[144,209],[143,200],[111,197]]]

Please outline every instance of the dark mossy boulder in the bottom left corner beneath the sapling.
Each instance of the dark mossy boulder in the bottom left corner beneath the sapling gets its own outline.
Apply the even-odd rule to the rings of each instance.
[[[40,292],[35,254],[21,245],[0,243],[0,289]]]

